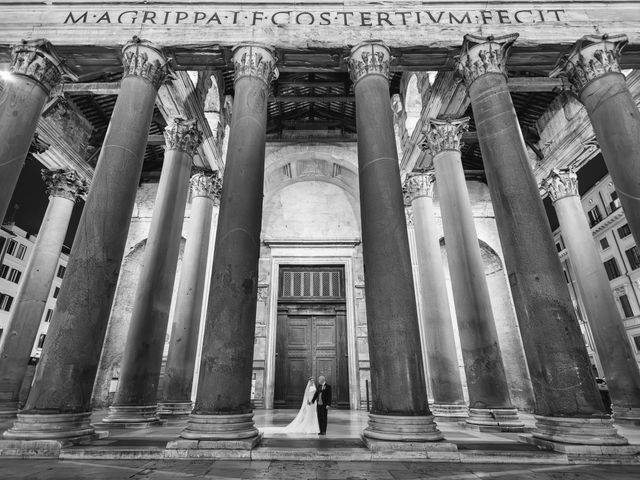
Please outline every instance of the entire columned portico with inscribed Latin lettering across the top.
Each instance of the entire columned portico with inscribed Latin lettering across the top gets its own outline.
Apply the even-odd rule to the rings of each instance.
[[[640,241],[637,3],[34,5],[0,4],[0,214],[33,156],[63,230],[43,223],[0,338],[0,443],[182,419],[167,449],[251,450],[254,409],[325,375],[339,407],[369,409],[372,451],[455,452],[438,425],[460,422],[637,453],[618,425],[640,423],[640,369],[574,174],[601,154]],[[541,123],[558,98],[583,130]],[[597,299],[612,415],[546,196]],[[40,240],[59,251],[79,197],[21,400],[56,268]]]

